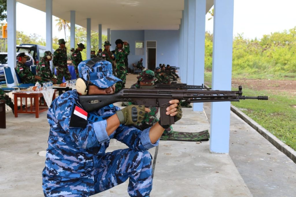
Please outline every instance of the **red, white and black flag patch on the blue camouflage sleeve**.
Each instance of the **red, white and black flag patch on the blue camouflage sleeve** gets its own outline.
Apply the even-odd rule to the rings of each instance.
[[[87,125],[87,112],[75,105],[70,117],[70,127],[85,128]]]

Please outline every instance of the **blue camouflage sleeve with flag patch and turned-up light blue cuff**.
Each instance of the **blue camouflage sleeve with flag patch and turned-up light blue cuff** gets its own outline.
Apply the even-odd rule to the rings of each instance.
[[[89,122],[87,113],[75,105],[73,98],[59,98],[54,109],[57,121],[79,148],[91,148],[110,139],[107,121]]]

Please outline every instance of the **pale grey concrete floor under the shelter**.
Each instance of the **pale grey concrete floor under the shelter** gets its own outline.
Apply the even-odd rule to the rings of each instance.
[[[127,76],[129,87],[136,75]],[[116,103],[120,105],[120,103]],[[210,104],[204,105],[210,118]],[[183,109],[176,131],[210,128],[203,112]],[[46,112],[6,113],[7,128],[0,129],[0,196],[43,196],[41,172],[49,125]],[[296,164],[231,112],[230,153],[213,154],[209,141],[160,141],[150,149],[155,163],[151,196],[295,196]],[[107,151],[126,146],[111,140]],[[128,196],[125,182],[95,196]]]

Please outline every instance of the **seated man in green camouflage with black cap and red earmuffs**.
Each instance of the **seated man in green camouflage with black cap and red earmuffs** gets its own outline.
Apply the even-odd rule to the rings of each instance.
[[[41,77],[33,75],[30,68],[25,65],[27,57],[25,53],[18,54],[18,63],[15,69],[22,83],[35,83],[37,80],[41,80]]]

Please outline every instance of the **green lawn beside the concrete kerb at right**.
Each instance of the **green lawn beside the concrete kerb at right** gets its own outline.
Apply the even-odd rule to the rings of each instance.
[[[206,84],[211,83],[211,73],[205,73]],[[237,87],[232,89],[237,90]],[[244,96],[268,96],[268,101],[242,100],[231,102],[250,118],[296,150],[296,97],[287,93],[277,95],[270,91],[254,91],[243,88]]]

